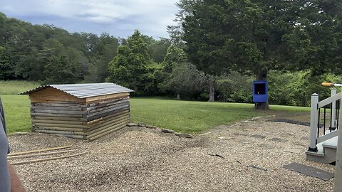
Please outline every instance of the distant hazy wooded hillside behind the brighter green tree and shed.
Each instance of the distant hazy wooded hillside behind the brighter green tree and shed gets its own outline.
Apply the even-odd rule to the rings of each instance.
[[[166,41],[148,41],[148,53],[161,62]],[[32,25],[0,13],[0,80],[42,83],[104,82],[108,63],[128,43],[108,33],[68,33],[53,25]]]

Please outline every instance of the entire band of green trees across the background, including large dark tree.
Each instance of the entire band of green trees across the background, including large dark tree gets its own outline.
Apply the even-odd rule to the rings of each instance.
[[[8,18],[0,12],[0,80],[39,84],[115,82],[135,90],[134,94],[139,96],[207,101],[210,91],[211,100],[252,102],[252,81],[266,78],[270,104],[298,106],[308,106],[314,92],[322,97],[330,94],[321,82],[342,82],[339,67],[336,67],[341,65],[338,51],[342,37],[341,33],[335,33],[335,26],[341,28],[341,16],[336,18],[336,14],[327,14],[339,22],[329,24],[335,32],[323,33],[313,28],[303,33],[299,21],[294,22],[294,27],[281,23],[290,19],[286,18],[288,14],[298,14],[296,12],[283,13],[279,20],[272,21],[274,23],[264,22],[262,19],[279,14],[279,11],[265,12],[258,4],[229,2],[180,1],[180,12],[175,19],[179,25],[167,28],[170,38],[157,40],[139,31],[133,31],[128,38],[108,33],[100,36],[69,33],[53,25],[32,25]],[[291,11],[281,6],[289,5],[279,5],[276,10]],[[341,9],[340,4],[336,9],[326,8],[331,13],[338,9]],[[235,17],[232,16],[234,10],[240,10]],[[314,22],[298,17],[307,25]],[[227,19],[235,22],[232,25],[242,26],[240,31],[244,28],[263,30],[252,30],[252,34],[229,31],[228,34],[226,29],[232,26],[217,24]],[[241,23],[252,23],[252,26]],[[276,26],[280,24],[283,25],[281,29]],[[324,41],[316,41],[311,36],[318,32],[325,37]],[[269,37],[269,34],[274,36]],[[281,41],[277,40],[279,34]],[[227,39],[229,41],[225,41]],[[284,46],[288,48],[287,55],[279,52]],[[229,51],[224,52],[226,50]]]

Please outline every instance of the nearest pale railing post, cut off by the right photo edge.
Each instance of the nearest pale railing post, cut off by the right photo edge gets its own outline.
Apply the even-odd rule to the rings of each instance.
[[[342,107],[342,100],[340,100],[340,109]],[[340,112],[338,121],[342,120],[342,114]],[[339,135],[342,135],[342,128],[337,130]],[[333,191],[342,191],[342,137],[338,137],[337,140],[337,153],[336,153],[336,166],[335,166],[335,183],[333,185]]]

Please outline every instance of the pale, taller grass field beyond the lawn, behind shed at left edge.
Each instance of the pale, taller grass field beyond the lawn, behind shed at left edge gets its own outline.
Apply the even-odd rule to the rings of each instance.
[[[24,80],[0,80],[0,95],[16,95],[40,86],[39,82]]]

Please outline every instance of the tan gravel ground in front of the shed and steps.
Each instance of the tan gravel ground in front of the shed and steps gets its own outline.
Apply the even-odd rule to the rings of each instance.
[[[11,135],[9,140],[12,151],[69,144],[79,152],[90,151],[68,159],[15,166],[28,192],[333,188],[333,179],[322,181],[283,168],[296,162],[334,171],[334,166],[305,160],[309,127],[263,119],[219,126],[192,139],[160,129],[125,127],[90,143],[36,133]]]

